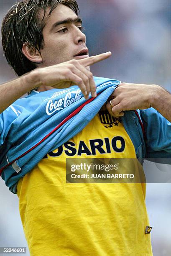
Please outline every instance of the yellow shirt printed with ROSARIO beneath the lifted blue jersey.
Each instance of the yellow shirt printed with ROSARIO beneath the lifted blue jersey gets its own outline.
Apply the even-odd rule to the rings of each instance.
[[[117,139],[116,139],[117,138]],[[145,184],[66,183],[66,159],[136,158],[120,119],[97,114],[18,182],[31,256],[151,256]]]

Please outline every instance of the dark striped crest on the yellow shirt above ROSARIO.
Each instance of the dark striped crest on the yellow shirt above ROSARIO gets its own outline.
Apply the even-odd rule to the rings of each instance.
[[[110,115],[107,110],[101,110],[99,112],[100,121],[105,126],[105,128],[112,128],[113,126],[118,126],[121,123],[121,118],[115,118]]]

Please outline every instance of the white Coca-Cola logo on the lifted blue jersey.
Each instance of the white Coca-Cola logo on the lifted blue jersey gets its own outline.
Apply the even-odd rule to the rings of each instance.
[[[77,100],[81,99],[83,97],[83,95],[80,95],[81,90],[78,89],[77,91],[72,91],[69,92],[69,90],[67,90],[68,92],[66,93],[65,97],[60,98],[59,100],[53,100],[54,97],[59,96],[59,93],[55,93],[55,95],[53,95],[51,98],[46,99],[48,100],[47,105],[46,105],[46,113],[47,115],[52,115],[54,112],[62,110],[66,107],[68,107],[69,105],[71,105],[72,103],[76,102]],[[66,91],[65,91],[66,92]],[[62,91],[63,94],[64,91]]]

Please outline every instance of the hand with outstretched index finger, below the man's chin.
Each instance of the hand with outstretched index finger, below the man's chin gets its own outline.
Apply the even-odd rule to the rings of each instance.
[[[93,74],[86,67],[110,56],[111,52],[107,52],[85,59],[72,59],[53,66],[34,69],[32,74],[38,77],[39,86],[44,85],[62,89],[76,84],[84,97],[88,99],[89,92],[91,92],[92,97],[96,97],[97,94]]]

